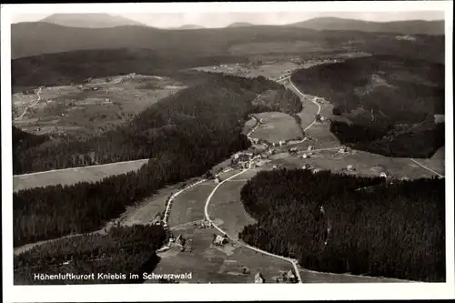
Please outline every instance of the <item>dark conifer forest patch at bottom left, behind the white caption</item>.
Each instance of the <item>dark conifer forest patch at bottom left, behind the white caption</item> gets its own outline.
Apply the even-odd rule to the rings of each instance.
[[[112,227],[104,234],[67,237],[36,246],[15,256],[16,285],[142,283],[142,273],[152,272],[165,240],[160,226]],[[40,280],[35,274],[91,275],[84,279]],[[98,278],[99,274],[125,274],[125,278]],[[129,278],[129,274],[139,278]],[[118,276],[117,276],[118,277]]]

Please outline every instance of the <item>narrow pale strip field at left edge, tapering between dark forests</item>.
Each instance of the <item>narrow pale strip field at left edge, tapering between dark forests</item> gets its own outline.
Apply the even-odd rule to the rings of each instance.
[[[18,175],[13,177],[13,191],[33,187],[52,185],[72,185],[77,182],[96,182],[104,177],[125,174],[137,170],[147,163],[147,159],[110,163],[93,167],[75,167],[45,171],[36,174]]]

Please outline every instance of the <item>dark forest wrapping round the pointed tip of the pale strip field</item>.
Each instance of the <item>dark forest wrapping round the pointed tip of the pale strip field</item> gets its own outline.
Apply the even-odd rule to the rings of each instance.
[[[270,86],[279,85],[264,77],[218,76],[148,107],[126,126],[101,138],[44,151],[32,149],[35,155],[23,157],[31,166],[61,165],[69,155],[88,152],[89,147],[110,162],[151,159],[136,172],[95,183],[35,187],[14,193],[15,247],[96,230],[157,189],[201,176],[238,150],[248,148],[242,129],[248,115],[258,112],[252,100]],[[277,102],[282,104],[282,100]],[[298,101],[295,111],[300,109]]]

